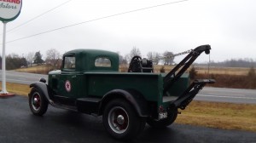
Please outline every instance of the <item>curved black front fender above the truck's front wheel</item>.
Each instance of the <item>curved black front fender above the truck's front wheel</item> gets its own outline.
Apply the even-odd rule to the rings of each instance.
[[[38,90],[40,90],[44,96],[46,97],[46,99],[48,100],[49,104],[53,104],[53,100],[51,100],[51,94],[49,94],[49,88],[48,85],[46,83],[42,83],[42,82],[34,82],[31,83],[30,88],[37,88]]]

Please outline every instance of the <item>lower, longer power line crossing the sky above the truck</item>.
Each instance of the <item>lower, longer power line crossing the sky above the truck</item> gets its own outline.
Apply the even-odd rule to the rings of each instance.
[[[112,14],[112,15],[108,15],[108,16],[103,16],[103,17],[96,18],[96,19],[93,19],[93,20],[87,20],[87,21],[75,23],[73,25],[62,26],[62,27],[55,28],[55,29],[52,29],[52,30],[49,30],[49,31],[39,32],[39,33],[33,34],[31,36],[20,37],[20,38],[17,38],[15,40],[9,41],[7,43],[13,43],[13,42],[16,42],[16,41],[19,41],[19,40],[22,40],[22,39],[26,39],[26,38],[29,38],[29,37],[36,37],[38,35],[46,34],[46,33],[52,32],[52,31],[59,31],[61,29],[65,29],[65,28],[72,27],[72,26],[83,25],[83,24],[86,24],[86,23],[89,23],[89,22],[92,22],[92,21],[96,21],[96,20],[108,19],[108,18],[111,18],[111,17],[114,17],[114,16],[119,16],[119,15],[122,15],[122,14],[134,13],[134,12],[142,11],[142,10],[146,10],[146,9],[154,9],[154,8],[157,8],[157,7],[162,7],[162,6],[166,6],[166,5],[170,5],[170,4],[174,4],[174,3],[183,3],[183,2],[186,2],[186,1],[189,1],[189,0],[181,0],[181,1],[171,2],[171,3],[163,3],[163,4],[159,4],[159,5],[154,5],[154,6],[151,6],[151,7],[143,8],[143,9],[135,9],[135,10],[130,10],[130,11],[126,11],[126,12],[123,12],[123,13],[119,13],[119,14]]]

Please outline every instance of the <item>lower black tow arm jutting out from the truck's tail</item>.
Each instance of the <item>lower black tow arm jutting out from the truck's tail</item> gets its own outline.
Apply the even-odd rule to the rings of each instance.
[[[207,83],[215,83],[214,79],[196,79],[188,89],[186,89],[177,100],[174,100],[170,107],[180,108],[184,110],[186,106],[195,98],[195,95],[203,89]]]

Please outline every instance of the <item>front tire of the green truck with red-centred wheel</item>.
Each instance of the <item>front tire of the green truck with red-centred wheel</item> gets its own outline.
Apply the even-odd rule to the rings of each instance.
[[[42,116],[48,109],[48,101],[44,94],[37,88],[32,88],[28,95],[28,103],[30,110],[36,116]]]

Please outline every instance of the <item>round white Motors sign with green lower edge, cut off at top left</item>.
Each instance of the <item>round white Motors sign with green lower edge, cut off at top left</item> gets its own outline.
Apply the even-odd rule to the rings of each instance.
[[[21,6],[22,0],[0,0],[0,20],[15,20],[20,14]]]

